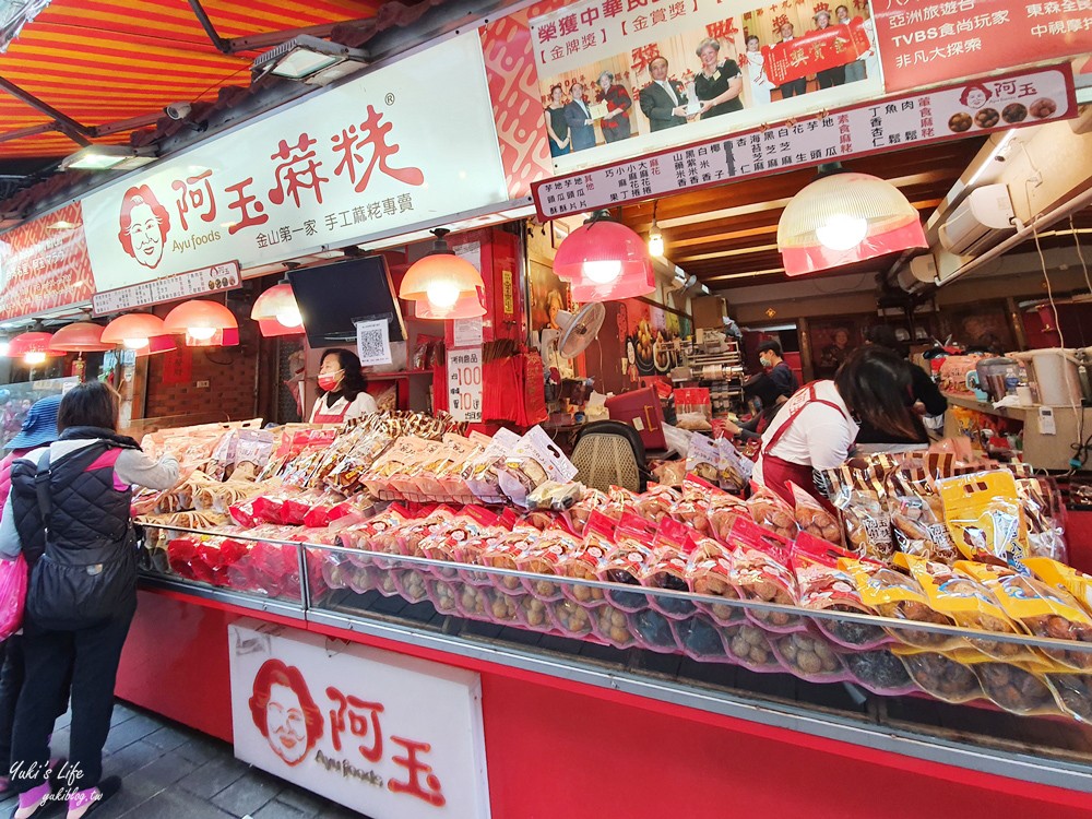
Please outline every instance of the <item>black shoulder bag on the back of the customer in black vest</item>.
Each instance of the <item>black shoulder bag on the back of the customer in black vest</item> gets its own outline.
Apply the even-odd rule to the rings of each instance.
[[[50,477],[47,449],[34,477],[45,551],[31,572],[26,612],[34,622],[48,629],[95,626],[135,603],[138,532],[129,522],[120,538],[99,536],[90,543],[59,543],[49,525]]]

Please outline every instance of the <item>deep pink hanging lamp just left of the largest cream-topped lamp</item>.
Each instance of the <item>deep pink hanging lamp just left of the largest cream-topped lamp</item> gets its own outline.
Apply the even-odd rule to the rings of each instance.
[[[579,304],[646,296],[656,289],[644,241],[606,211],[596,211],[565,237],[554,257],[554,273],[569,282],[572,300]]]

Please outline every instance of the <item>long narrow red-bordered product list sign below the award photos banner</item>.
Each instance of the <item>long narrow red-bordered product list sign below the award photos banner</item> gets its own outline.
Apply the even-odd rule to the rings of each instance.
[[[539,218],[1077,116],[1069,63],[903,94],[533,187]]]

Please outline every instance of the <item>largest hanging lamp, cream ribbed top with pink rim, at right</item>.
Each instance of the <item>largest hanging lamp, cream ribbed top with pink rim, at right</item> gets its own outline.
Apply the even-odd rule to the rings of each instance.
[[[787,275],[928,247],[921,216],[893,185],[868,174],[822,168],[820,174],[793,197],[778,223]]]

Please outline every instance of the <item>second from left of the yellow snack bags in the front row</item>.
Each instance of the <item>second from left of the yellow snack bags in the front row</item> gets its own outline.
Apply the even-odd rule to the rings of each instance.
[[[985,585],[945,563],[899,554],[895,566],[910,571],[929,601],[929,606],[950,617],[957,626],[976,631],[1022,634]],[[989,657],[1005,663],[1037,661],[1042,655],[1019,643],[968,637],[968,643]]]

